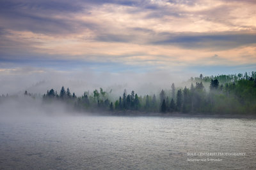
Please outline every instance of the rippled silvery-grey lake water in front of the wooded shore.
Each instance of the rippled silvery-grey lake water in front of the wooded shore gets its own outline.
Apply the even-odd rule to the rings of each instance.
[[[0,169],[256,169],[256,120],[1,118]]]

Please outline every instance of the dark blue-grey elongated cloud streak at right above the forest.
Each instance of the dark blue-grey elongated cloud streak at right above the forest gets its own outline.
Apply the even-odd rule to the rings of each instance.
[[[192,49],[227,50],[244,45],[254,46],[256,34],[243,34],[243,32],[164,34],[162,39],[152,43],[156,45],[177,45]]]

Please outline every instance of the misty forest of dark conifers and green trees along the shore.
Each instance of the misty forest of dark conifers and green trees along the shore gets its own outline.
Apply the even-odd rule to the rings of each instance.
[[[171,80],[170,80],[171,81]],[[170,82],[170,89],[159,94],[140,96],[124,90],[118,98],[103,89],[92,93],[84,92],[77,97],[70,89],[62,87],[60,93],[50,89],[44,94],[44,103],[61,101],[77,111],[108,111],[113,114],[122,111],[140,111],[145,113],[227,113],[256,114],[256,73],[203,76],[188,80],[190,87],[175,87]],[[208,90],[209,89],[209,90]],[[29,92],[25,96],[35,97]],[[1,96],[0,102],[6,99]]]

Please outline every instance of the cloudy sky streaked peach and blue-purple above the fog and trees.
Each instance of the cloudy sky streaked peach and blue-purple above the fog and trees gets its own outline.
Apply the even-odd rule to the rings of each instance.
[[[255,9],[255,0],[1,0],[1,82],[255,71]]]

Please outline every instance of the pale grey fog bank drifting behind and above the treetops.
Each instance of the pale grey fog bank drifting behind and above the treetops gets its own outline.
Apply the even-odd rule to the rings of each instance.
[[[176,87],[182,81],[197,74],[171,73],[167,71],[152,71],[148,73],[98,73],[95,71],[54,71],[24,67],[8,69],[0,74],[0,94],[22,94],[25,90],[33,94],[45,94],[54,89],[60,92],[62,86],[81,96],[84,91],[92,92],[102,87],[112,94],[120,96],[124,92],[134,90],[139,95],[153,94],[161,89],[170,89],[172,83]]]

